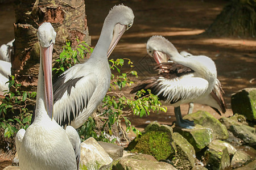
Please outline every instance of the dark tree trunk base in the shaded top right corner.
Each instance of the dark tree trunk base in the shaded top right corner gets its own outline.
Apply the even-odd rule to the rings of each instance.
[[[232,0],[205,34],[221,37],[256,36],[256,0]]]

